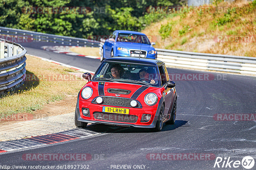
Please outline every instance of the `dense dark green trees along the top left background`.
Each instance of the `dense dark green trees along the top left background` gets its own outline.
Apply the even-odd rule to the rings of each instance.
[[[164,12],[147,12],[150,6],[177,6],[182,0],[2,0],[0,26],[88,38],[109,35],[114,30],[140,31],[168,17]],[[87,12],[31,13],[26,7],[89,7]]]

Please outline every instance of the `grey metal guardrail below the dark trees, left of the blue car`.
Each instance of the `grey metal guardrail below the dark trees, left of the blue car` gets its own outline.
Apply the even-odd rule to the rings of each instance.
[[[0,27],[0,34],[6,36],[20,36],[21,38],[27,38],[28,41],[33,42],[52,42],[60,43],[66,46],[93,46],[99,47],[100,42],[90,39],[81,39],[76,37],[67,37],[61,35],[46,34],[41,32],[13,29],[7,27]],[[26,37],[25,37],[26,36]]]

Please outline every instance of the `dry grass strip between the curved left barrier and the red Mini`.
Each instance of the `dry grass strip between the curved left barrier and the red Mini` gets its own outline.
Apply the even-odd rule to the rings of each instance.
[[[42,108],[46,103],[58,101],[67,96],[77,96],[78,91],[86,83],[82,78],[73,78],[75,75],[70,73],[77,72],[75,69],[43,61],[29,55],[26,56],[27,76],[34,74],[37,76],[36,78],[41,77],[42,79],[35,81],[35,79],[29,80],[28,78],[19,89],[0,96],[0,118],[20,112],[32,112]],[[45,81],[46,79],[43,79],[42,74],[69,75],[70,80],[76,81],[63,81],[67,79],[61,79],[60,77],[58,80],[62,81]]]

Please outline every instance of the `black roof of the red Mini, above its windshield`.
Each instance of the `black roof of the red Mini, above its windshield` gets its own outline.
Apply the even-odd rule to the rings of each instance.
[[[107,58],[104,61],[115,61],[115,62],[123,62],[123,63],[137,63],[137,64],[147,64],[153,66],[159,66],[164,64],[164,62],[155,59],[149,58],[139,58],[139,57],[111,57]]]

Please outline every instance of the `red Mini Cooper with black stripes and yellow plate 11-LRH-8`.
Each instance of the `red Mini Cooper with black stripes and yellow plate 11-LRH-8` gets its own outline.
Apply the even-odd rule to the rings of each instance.
[[[104,60],[77,97],[75,124],[100,123],[152,128],[174,124],[177,108],[175,83],[164,62],[138,57]]]

